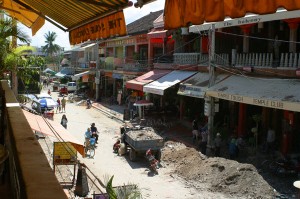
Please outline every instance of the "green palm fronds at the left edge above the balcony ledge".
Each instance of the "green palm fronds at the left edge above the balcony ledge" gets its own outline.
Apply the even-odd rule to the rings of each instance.
[[[13,52],[11,45],[11,38],[16,37],[21,42],[30,43],[28,35],[22,32],[20,29],[15,26],[11,18],[4,18],[0,20],[0,75],[5,71],[15,70],[15,66],[12,63],[12,57],[10,61],[7,60],[7,56]]]

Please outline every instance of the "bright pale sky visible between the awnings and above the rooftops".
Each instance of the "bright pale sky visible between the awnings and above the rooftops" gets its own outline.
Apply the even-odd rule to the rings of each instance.
[[[133,3],[136,2],[136,0],[131,0]],[[129,24],[147,14],[150,12],[155,12],[158,10],[163,10],[165,6],[165,0],[156,0],[152,3],[149,3],[147,5],[144,5],[142,8],[135,8],[134,6],[130,8],[124,9],[124,17],[126,24]],[[69,33],[64,32],[63,30],[57,28],[53,24],[51,24],[48,21],[45,21],[45,25],[35,34],[35,36],[31,36],[31,29],[27,28],[26,26],[20,24],[20,29],[24,32],[26,32],[31,37],[31,46],[41,47],[45,45],[45,37],[44,35],[48,32],[56,32],[57,38],[55,40],[55,43],[60,45],[61,47],[64,47],[65,50],[70,50],[71,46],[69,43]]]

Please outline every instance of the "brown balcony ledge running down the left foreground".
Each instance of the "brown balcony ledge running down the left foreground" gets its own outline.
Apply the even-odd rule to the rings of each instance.
[[[0,81],[0,99],[0,144],[9,155],[2,163],[5,164],[3,172],[0,164],[0,198],[66,199],[16,97],[4,81]]]

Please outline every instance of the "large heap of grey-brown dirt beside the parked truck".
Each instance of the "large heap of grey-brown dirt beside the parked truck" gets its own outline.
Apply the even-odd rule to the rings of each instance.
[[[274,198],[273,188],[251,164],[207,158],[194,148],[171,141],[165,143],[161,160],[194,187],[237,198]]]

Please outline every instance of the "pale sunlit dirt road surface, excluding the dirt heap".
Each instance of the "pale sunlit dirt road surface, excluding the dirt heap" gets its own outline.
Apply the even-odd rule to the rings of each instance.
[[[54,94],[54,99],[57,97]],[[107,176],[114,175],[113,186],[133,183],[140,188],[143,198],[226,198],[222,194],[212,194],[205,190],[196,190],[173,174],[168,166],[159,169],[159,175],[148,175],[147,163],[143,158],[130,162],[127,156],[117,156],[112,151],[112,145],[119,136],[121,123],[117,122],[95,109],[76,106],[67,103],[66,113],[54,115],[54,120],[60,122],[63,114],[68,119],[68,130],[78,140],[84,141],[84,132],[92,122],[95,122],[100,132],[98,147],[94,159],[81,158],[99,179],[105,181]],[[104,190],[103,190],[104,191]]]

